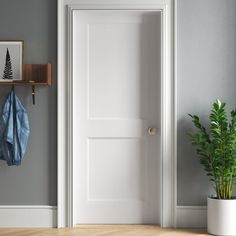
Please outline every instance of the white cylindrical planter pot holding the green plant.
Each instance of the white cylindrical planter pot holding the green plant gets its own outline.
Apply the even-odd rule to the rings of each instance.
[[[213,235],[236,235],[236,199],[208,198],[207,231]]]

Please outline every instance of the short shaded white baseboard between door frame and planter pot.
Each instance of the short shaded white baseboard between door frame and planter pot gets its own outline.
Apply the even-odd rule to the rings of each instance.
[[[206,206],[176,207],[177,228],[206,228],[206,226],[207,226]]]

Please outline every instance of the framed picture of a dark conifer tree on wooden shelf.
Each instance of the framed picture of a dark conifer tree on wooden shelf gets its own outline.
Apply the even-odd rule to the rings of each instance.
[[[23,41],[0,41],[0,82],[22,80]]]

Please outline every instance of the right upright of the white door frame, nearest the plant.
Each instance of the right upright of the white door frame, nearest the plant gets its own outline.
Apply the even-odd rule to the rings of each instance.
[[[175,222],[175,83],[173,3],[162,8],[162,227]]]

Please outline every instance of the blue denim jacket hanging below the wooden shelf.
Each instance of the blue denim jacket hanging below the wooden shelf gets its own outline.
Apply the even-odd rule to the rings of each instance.
[[[12,90],[0,117],[0,159],[9,166],[20,165],[29,137],[29,120],[25,108]]]

